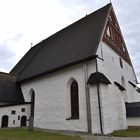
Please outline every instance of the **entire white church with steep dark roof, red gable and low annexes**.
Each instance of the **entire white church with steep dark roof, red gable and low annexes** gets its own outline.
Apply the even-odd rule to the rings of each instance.
[[[0,127],[108,134],[140,126],[136,75],[112,4],[0,73]]]

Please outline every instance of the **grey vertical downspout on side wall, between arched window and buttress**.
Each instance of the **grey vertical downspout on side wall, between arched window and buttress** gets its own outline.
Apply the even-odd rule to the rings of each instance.
[[[87,85],[88,80],[88,68],[86,62],[83,64],[84,78],[85,78],[85,91],[86,91],[86,108],[87,108],[87,127],[88,133],[92,133],[92,120],[91,120],[91,107],[90,107],[90,92],[89,86]]]

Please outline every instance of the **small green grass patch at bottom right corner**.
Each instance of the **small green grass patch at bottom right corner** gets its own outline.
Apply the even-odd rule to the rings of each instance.
[[[140,129],[127,129],[114,131],[111,136],[115,137],[140,137]]]

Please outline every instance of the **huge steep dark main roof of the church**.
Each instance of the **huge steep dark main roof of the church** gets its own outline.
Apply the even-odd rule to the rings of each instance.
[[[43,40],[11,70],[18,81],[95,58],[111,4]]]

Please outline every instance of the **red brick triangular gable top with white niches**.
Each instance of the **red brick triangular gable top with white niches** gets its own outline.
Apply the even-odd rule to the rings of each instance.
[[[110,14],[108,16],[108,21],[102,41],[105,42],[109,47],[111,47],[125,61],[132,65],[113,10],[110,11]]]

